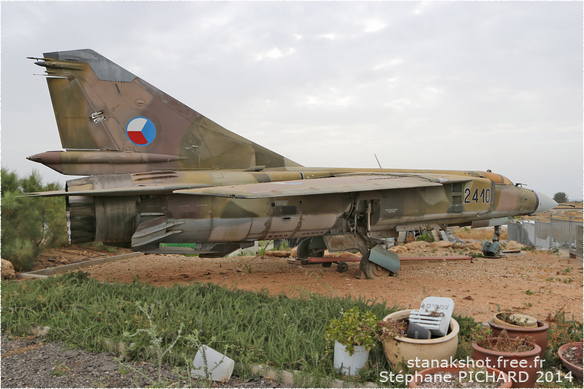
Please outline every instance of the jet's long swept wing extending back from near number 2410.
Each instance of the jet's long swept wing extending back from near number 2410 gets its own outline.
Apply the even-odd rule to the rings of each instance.
[[[279,181],[272,183],[230,185],[210,188],[175,190],[174,193],[209,195],[230,198],[269,198],[328,193],[377,191],[398,188],[436,187],[421,177],[344,176],[313,178],[311,180]]]

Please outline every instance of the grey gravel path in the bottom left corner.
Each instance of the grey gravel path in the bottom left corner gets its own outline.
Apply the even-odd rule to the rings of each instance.
[[[64,345],[46,342],[42,338],[2,337],[0,367],[3,388],[135,388],[151,387],[159,382],[158,367],[151,362],[122,363],[113,353],[87,352],[81,349],[65,349]],[[162,366],[160,380],[164,386],[207,387],[206,381],[191,380],[186,368],[182,375],[173,372],[171,366]],[[180,373],[180,372],[178,372]],[[242,381],[232,377],[224,384],[212,383],[211,387],[266,387],[279,385],[270,379]]]

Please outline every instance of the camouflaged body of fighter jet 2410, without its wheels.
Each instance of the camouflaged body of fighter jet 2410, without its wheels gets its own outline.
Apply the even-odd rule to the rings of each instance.
[[[90,176],[35,194],[67,196],[72,243],[223,256],[256,240],[324,237],[330,251],[365,253],[399,231],[495,226],[554,206],[490,171],[304,167],[95,51],[34,59],[47,68],[66,151],[29,159]],[[136,118],[155,128],[140,130],[145,145],[127,133]],[[197,249],[159,247],[186,242]]]

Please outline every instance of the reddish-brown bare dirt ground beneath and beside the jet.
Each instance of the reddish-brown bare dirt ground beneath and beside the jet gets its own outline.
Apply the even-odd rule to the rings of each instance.
[[[452,249],[403,255],[460,255]],[[100,281],[130,282],[138,277],[154,285],[213,282],[243,290],[266,288],[269,293],[305,297],[322,295],[385,300],[388,304],[418,308],[427,296],[454,300],[454,311],[488,321],[499,309],[512,309],[544,320],[548,313],[564,309],[582,318],[582,260],[547,251],[523,251],[500,259],[471,261],[402,262],[398,276],[377,280],[357,279],[359,262],[349,271],[336,265],[294,265],[287,258],[197,258],[150,254],[85,268]]]

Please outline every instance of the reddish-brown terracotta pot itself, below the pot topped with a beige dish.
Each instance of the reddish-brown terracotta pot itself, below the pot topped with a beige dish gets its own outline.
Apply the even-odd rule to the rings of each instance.
[[[499,338],[491,338],[491,344],[495,344]],[[515,341],[512,339],[512,341]],[[533,349],[526,352],[500,352],[492,351],[482,348],[477,342],[472,342],[472,359],[484,360],[488,366],[495,367],[502,372],[509,374],[509,379],[512,381],[512,388],[533,388],[537,380],[537,372],[540,370],[540,346],[528,342],[528,345],[533,345]],[[525,360],[525,362],[521,362]],[[516,362],[513,362],[516,361]],[[520,363],[525,364],[525,367],[520,367]],[[515,367],[512,367],[515,366]]]

